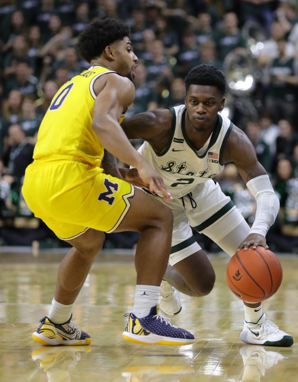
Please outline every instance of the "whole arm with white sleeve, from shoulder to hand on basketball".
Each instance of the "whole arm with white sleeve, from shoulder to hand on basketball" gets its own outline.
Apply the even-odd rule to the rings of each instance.
[[[235,163],[241,178],[257,201],[254,223],[237,251],[241,248],[248,249],[249,246],[256,248],[258,245],[268,248],[265,236],[279,212],[279,199],[266,170],[258,162],[253,145],[236,126],[233,127],[224,148],[223,163],[227,162]]]

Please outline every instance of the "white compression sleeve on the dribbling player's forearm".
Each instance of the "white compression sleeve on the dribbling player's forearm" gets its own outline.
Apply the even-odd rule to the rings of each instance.
[[[274,193],[268,175],[257,176],[246,185],[257,201],[256,218],[249,233],[266,236],[279,212],[279,198]]]

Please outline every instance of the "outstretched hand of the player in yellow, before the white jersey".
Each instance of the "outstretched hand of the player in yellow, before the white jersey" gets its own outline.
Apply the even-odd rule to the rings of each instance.
[[[147,162],[142,162],[138,168],[138,173],[152,194],[161,192],[166,202],[173,200],[171,194],[165,188],[162,177]]]

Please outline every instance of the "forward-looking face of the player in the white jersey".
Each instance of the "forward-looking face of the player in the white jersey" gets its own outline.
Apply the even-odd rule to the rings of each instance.
[[[215,123],[217,112],[223,109],[224,97],[215,86],[190,85],[185,95],[188,119],[197,130],[206,130]]]

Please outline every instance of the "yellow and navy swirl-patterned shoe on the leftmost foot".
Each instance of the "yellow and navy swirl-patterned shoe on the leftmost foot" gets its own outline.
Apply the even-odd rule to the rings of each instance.
[[[48,317],[39,321],[41,324],[32,334],[34,341],[46,346],[55,345],[90,345],[91,337],[82,332],[70,319],[64,324],[54,324]]]

